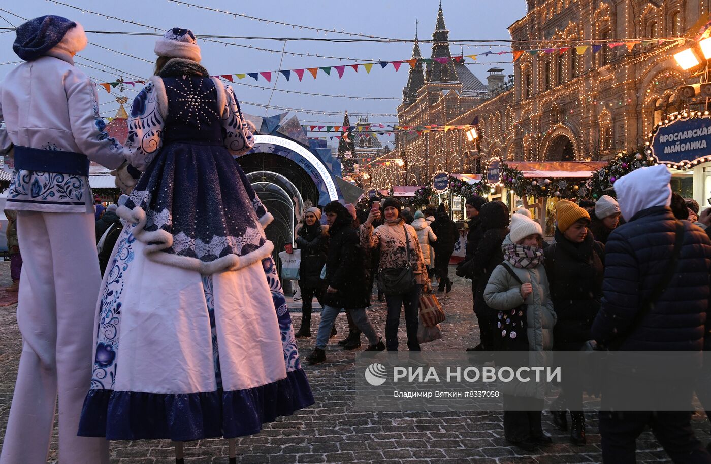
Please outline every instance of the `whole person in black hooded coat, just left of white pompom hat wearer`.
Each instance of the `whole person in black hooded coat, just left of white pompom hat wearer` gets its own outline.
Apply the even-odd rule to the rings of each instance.
[[[479,210],[481,230],[483,236],[471,258],[471,275],[476,280],[474,293],[474,314],[479,321],[479,337],[481,343],[471,350],[493,351],[496,350],[495,341],[501,337],[494,337],[496,327],[496,314],[498,311],[491,309],[484,302],[484,289],[488,283],[491,272],[503,261],[501,244],[508,235],[508,207],[501,201],[489,201]]]

